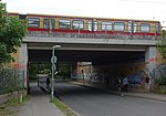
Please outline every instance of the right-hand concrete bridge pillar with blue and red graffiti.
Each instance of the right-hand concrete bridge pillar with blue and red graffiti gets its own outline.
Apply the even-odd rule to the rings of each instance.
[[[154,85],[155,67],[156,67],[156,46],[148,46],[145,52],[146,73],[149,83],[145,83],[145,89],[151,91]]]

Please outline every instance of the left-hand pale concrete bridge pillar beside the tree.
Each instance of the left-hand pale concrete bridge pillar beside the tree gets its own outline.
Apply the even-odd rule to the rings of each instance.
[[[24,87],[28,87],[28,77],[27,77],[27,68],[28,68],[28,49],[27,49],[27,43],[22,43],[21,48],[19,48],[19,62],[18,64],[20,65],[20,70],[23,71],[23,81],[24,81]]]

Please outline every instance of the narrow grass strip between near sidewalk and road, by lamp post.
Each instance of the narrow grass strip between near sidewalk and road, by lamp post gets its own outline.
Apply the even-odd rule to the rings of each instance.
[[[62,103],[60,99],[54,97],[53,103],[66,115],[66,116],[79,116],[74,110],[72,110],[68,105]]]

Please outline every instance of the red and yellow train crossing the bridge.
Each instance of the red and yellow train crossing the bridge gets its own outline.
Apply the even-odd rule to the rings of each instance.
[[[46,14],[19,14],[20,20],[25,19],[28,31],[51,31],[65,33],[106,33],[124,35],[151,35],[159,36],[162,25],[159,21],[152,20],[129,20],[108,18],[86,18]]]

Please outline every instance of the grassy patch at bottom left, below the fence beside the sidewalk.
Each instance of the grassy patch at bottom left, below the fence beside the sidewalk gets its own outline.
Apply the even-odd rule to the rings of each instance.
[[[15,107],[21,106],[24,102],[29,101],[30,96],[22,97],[22,103],[20,103],[20,98],[11,98],[3,104],[0,105],[0,116],[13,116],[18,113]]]

